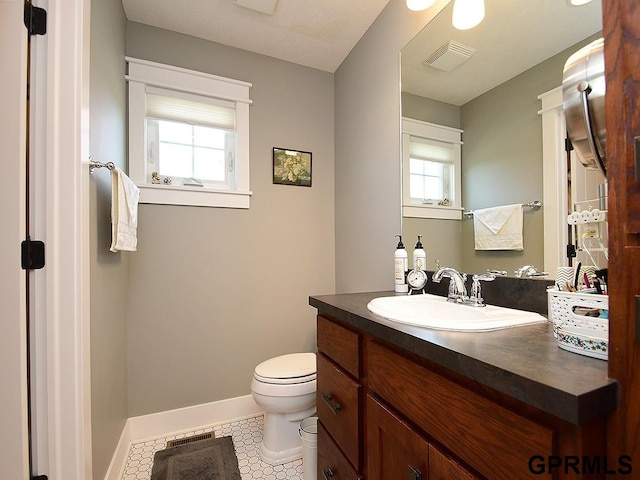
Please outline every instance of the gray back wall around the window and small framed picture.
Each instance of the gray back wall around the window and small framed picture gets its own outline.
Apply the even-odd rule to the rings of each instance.
[[[250,393],[255,366],[315,350],[335,290],[333,76],[129,23],[127,55],[251,82],[249,210],[141,205],[130,256],[129,415]],[[272,148],[313,153],[311,188],[272,183]]]

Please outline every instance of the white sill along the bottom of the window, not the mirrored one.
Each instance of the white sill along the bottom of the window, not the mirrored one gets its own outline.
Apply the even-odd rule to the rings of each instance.
[[[194,207],[249,208],[252,192],[215,190],[182,185],[138,185],[139,203]]]

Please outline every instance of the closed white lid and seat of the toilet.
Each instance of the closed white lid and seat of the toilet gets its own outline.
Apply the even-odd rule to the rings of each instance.
[[[270,358],[254,371],[257,380],[266,383],[301,383],[316,378],[315,353],[290,353]]]

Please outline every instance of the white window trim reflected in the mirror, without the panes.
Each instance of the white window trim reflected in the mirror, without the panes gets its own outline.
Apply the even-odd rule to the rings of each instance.
[[[449,143],[453,147],[453,205],[423,205],[409,196],[410,138],[420,137]],[[415,218],[462,220],[461,146],[462,130],[411,118],[402,119],[402,215]]]

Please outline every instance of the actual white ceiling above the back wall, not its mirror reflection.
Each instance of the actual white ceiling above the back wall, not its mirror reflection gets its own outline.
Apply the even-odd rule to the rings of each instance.
[[[273,5],[273,15],[239,6]],[[333,73],[389,0],[122,0],[127,19]]]

